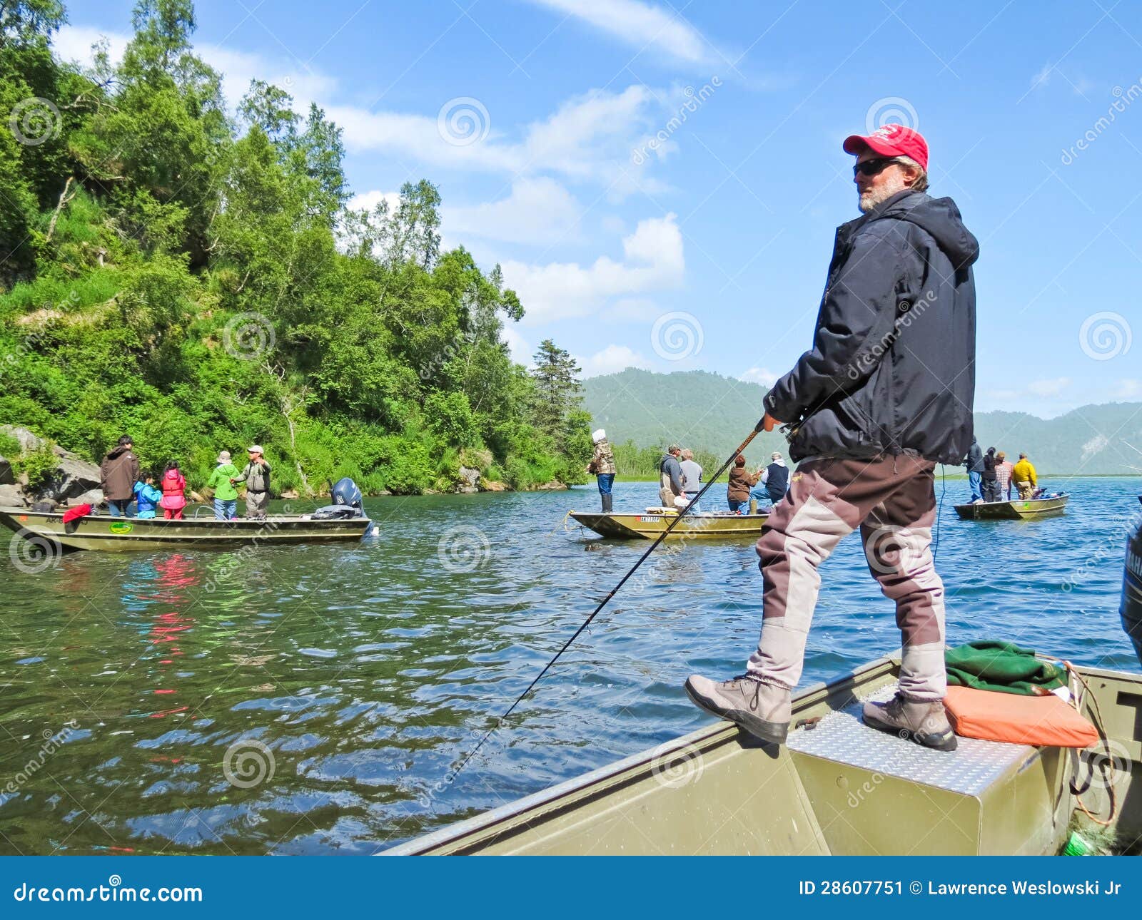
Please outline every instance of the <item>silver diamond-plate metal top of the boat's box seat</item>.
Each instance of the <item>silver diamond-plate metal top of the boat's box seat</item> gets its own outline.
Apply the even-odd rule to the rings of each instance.
[[[892,685],[866,699],[886,702],[895,692]],[[859,701],[830,712],[817,725],[790,732],[789,750],[964,796],[980,796],[1004,772],[1035,751],[1026,744],[968,737],[959,739],[959,747],[950,753],[932,751],[869,728],[860,720],[862,705],[863,701]]]

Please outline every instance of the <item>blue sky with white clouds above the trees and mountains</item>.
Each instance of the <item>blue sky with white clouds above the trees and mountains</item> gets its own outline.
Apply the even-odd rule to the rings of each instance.
[[[87,56],[130,2],[70,6]],[[1142,400],[1142,6],[200,0],[200,54],[317,102],[361,203],[428,178],[444,242],[504,266],[588,374],[770,382],[810,342],[842,139],[928,139],[980,239],[976,409]],[[683,116],[684,115],[684,116]],[[671,122],[673,119],[673,122]],[[1081,142],[1081,144],[1079,143]]]

